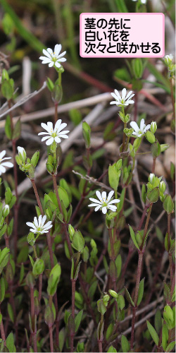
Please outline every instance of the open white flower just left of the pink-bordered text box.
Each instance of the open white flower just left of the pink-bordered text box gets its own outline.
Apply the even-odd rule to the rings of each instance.
[[[60,62],[66,61],[67,59],[62,56],[66,54],[61,52],[62,46],[61,44],[56,44],[54,47],[54,52],[51,48],[43,49],[43,53],[45,56],[40,56],[39,59],[42,60],[42,64],[49,64],[49,67],[56,66],[57,68],[61,67]]]

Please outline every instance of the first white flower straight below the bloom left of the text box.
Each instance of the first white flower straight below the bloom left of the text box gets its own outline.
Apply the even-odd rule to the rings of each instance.
[[[38,135],[47,135],[42,137],[42,141],[46,141],[46,145],[51,145],[54,141],[56,141],[56,143],[60,143],[61,138],[68,138],[66,133],[69,133],[69,130],[61,131],[63,128],[65,128],[65,126],[67,126],[67,124],[61,123],[62,120],[58,119],[54,127],[51,121],[48,121],[47,125],[44,123],[41,124],[42,128],[44,128],[47,132],[41,132],[38,133]]]

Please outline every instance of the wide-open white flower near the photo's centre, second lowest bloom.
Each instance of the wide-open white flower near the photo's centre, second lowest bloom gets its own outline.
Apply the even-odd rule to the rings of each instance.
[[[113,194],[114,194],[114,191],[110,191],[107,197],[106,191],[103,191],[102,193],[100,193],[99,191],[96,191],[96,196],[97,198],[99,198],[99,200],[97,200],[96,198],[89,198],[89,200],[93,202],[89,205],[89,207],[96,206],[95,212],[101,209],[104,215],[107,213],[108,209],[115,212],[115,210],[117,210],[117,207],[112,204],[118,203],[120,202],[120,200],[118,200],[118,198],[115,198],[114,200],[111,201]]]

